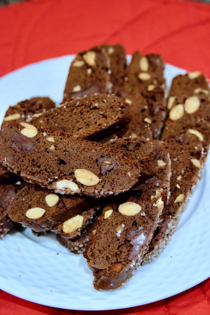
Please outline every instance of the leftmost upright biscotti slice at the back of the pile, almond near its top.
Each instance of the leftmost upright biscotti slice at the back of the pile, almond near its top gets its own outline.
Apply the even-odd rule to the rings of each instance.
[[[72,61],[63,102],[94,93],[111,93],[109,58],[101,47],[82,51]]]

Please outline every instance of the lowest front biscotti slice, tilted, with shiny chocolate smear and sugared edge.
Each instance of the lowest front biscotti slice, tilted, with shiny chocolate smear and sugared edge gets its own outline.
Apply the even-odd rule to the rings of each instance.
[[[170,159],[160,141],[153,141],[153,145],[161,161],[157,174],[140,185],[139,191],[107,200],[83,253],[97,290],[116,289],[132,277],[167,202]]]

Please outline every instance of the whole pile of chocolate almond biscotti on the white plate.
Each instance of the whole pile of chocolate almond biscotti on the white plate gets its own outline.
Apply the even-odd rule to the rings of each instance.
[[[55,233],[71,253],[83,252],[96,289],[116,289],[154,260],[210,141],[205,77],[174,78],[167,102],[165,88],[159,55],[136,52],[127,66],[121,45],[104,44],[72,61],[60,106],[34,98],[9,107],[0,138],[2,234],[13,221]]]

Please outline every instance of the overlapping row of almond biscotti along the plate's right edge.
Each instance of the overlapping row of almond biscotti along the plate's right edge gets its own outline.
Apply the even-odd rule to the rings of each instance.
[[[162,134],[171,157],[172,176],[169,203],[143,259],[154,260],[175,232],[190,194],[194,191],[210,144],[210,90],[200,72],[173,79],[167,100],[167,119]]]

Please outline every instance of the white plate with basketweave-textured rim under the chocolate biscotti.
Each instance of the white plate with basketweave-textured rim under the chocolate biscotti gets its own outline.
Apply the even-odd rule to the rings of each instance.
[[[59,103],[73,56],[44,60],[0,79],[0,120],[9,104],[32,96],[50,96]],[[166,66],[167,84],[184,73]],[[0,288],[39,304],[75,310],[109,310],[138,306],[175,295],[210,276],[210,158],[203,180],[191,198],[172,241],[158,259],[140,267],[115,291],[95,291],[85,259],[69,253],[49,236],[30,229],[0,241]],[[59,255],[57,255],[59,253]]]

